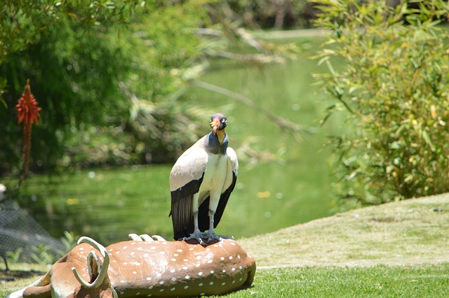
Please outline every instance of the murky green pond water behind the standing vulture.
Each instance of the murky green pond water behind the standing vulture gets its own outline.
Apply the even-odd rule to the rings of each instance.
[[[281,132],[267,117],[239,101],[192,87],[180,100],[208,113],[227,115],[229,146],[239,155],[237,185],[215,232],[236,239],[273,232],[333,213],[328,135],[338,125],[316,121],[328,105],[311,85],[316,62],[307,59],[317,43],[304,41],[304,55],[262,69],[239,62],[213,62],[201,80],[243,94],[275,115],[311,127],[314,134]],[[257,154],[248,154],[248,150]],[[262,157],[257,159],[256,157]],[[171,239],[171,164],[84,169],[59,176],[33,176],[21,187],[22,204],[53,236],[72,231],[104,244],[129,233]]]

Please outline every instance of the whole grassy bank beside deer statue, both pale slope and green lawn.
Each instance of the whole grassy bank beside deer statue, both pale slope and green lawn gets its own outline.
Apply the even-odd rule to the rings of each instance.
[[[258,272],[229,297],[448,297],[448,230],[441,194],[241,239]],[[0,297],[34,279],[0,283]]]

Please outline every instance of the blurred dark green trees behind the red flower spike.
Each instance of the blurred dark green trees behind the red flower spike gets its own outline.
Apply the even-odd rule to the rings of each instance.
[[[203,24],[203,1],[8,1],[2,14],[0,27],[15,30],[0,35],[0,173],[20,164],[14,106],[27,78],[42,108],[32,171],[167,161],[179,155],[166,148],[170,139],[180,136],[178,150],[191,143],[188,125],[163,121],[191,111],[175,100],[198,61],[200,39],[189,29]],[[152,113],[146,106],[154,106]],[[189,121],[197,116],[190,113]],[[154,127],[164,134],[154,134]],[[88,132],[103,130],[115,132],[107,135],[106,150],[80,139],[101,137]]]

